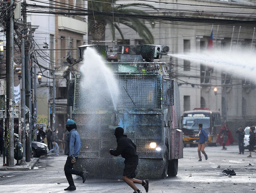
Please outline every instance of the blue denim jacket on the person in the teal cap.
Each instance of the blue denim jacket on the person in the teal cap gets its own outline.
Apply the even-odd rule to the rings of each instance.
[[[67,151],[66,155],[76,158],[79,155],[79,150],[81,148],[81,141],[76,129],[72,129],[67,136]]]

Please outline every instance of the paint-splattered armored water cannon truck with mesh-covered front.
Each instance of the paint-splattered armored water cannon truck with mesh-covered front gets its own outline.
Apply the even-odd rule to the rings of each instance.
[[[178,159],[183,158],[179,88],[169,78],[165,63],[154,61],[166,55],[169,47],[114,45],[109,53],[108,45],[83,45],[78,47],[78,60],[69,58],[70,66],[86,60],[87,48],[106,61],[119,92],[118,100],[112,99],[115,108],[109,102],[112,96],[103,90],[97,93],[102,99],[91,106],[85,102],[91,100],[90,91],[81,88],[85,75],[78,73],[70,81],[68,104],[73,106],[82,142],[75,167],[89,172],[91,178],[120,178],[124,159],[109,153],[116,148],[114,130],[120,126],[137,146],[138,178],[176,176]]]

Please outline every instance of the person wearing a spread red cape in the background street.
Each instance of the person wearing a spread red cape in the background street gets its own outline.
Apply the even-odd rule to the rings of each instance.
[[[225,145],[234,143],[234,138],[226,123],[220,129],[216,143],[219,143],[220,145],[222,145],[222,150],[227,150]]]

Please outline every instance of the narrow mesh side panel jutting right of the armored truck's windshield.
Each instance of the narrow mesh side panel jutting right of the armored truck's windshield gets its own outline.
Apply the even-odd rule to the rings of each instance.
[[[173,80],[172,79],[163,79],[164,95],[163,95],[163,104],[165,105],[174,105],[173,101]]]

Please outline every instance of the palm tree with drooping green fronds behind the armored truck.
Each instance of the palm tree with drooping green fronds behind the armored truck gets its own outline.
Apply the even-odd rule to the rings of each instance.
[[[139,14],[139,15],[148,15],[145,11],[140,9],[130,8],[132,6],[143,6],[143,7],[152,7],[151,5],[145,3],[130,3],[127,5],[113,5],[107,3],[116,3],[117,0],[97,0],[100,2],[88,1],[88,9],[99,11],[99,12],[118,12],[118,13],[130,13],[130,14]],[[103,2],[103,3],[101,3]],[[107,2],[107,3],[104,3]],[[121,35],[121,38],[124,40],[124,35],[119,27],[119,24],[123,24],[133,29],[138,33],[138,35],[145,40],[147,44],[154,44],[153,35],[150,32],[149,28],[145,25],[145,22],[149,22],[150,26],[154,28],[154,23],[145,19],[137,18],[127,18],[127,17],[114,17],[97,15],[88,16],[88,33],[91,32],[93,40],[101,41],[104,38],[106,25],[111,25],[111,34],[113,40],[115,40],[115,29]],[[114,24],[113,24],[114,23]],[[114,25],[114,27],[112,27]]]

